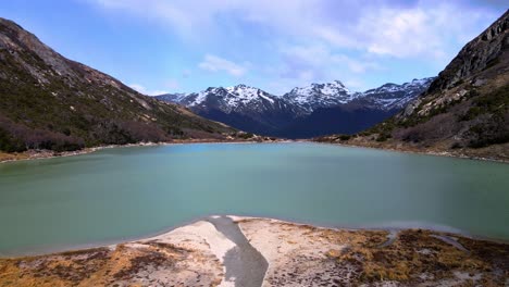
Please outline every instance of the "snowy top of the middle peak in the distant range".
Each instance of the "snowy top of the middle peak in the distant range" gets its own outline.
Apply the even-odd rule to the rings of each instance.
[[[328,108],[350,102],[360,95],[351,92],[339,80],[325,84],[311,84],[307,87],[294,88],[283,96],[283,99],[300,105],[307,113],[319,108]]]

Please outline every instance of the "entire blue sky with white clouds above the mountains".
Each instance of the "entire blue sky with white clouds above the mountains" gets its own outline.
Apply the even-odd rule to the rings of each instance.
[[[437,75],[498,0],[2,0],[0,16],[147,95],[246,84],[362,91]]]

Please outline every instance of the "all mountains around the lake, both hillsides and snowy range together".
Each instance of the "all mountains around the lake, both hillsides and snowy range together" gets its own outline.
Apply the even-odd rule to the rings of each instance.
[[[236,127],[286,138],[509,160],[509,11],[467,43],[436,78],[362,92],[335,80],[283,96],[237,85],[156,98],[62,57],[0,18],[0,150],[9,152],[232,139]]]

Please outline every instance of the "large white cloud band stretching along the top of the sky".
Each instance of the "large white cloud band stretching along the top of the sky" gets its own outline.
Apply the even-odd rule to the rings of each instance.
[[[222,18],[268,28],[274,38],[324,42],[397,58],[438,58],[450,38],[470,39],[496,15],[464,2],[437,0],[87,0],[166,24],[186,38],[223,40]],[[237,22],[235,22],[237,21]],[[227,42],[227,41],[225,41]],[[455,51],[456,52],[456,51]]]

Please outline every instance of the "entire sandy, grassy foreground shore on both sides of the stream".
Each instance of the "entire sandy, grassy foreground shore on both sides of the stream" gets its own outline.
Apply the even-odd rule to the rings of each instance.
[[[0,259],[0,286],[507,286],[509,245],[212,216],[147,239]]]

